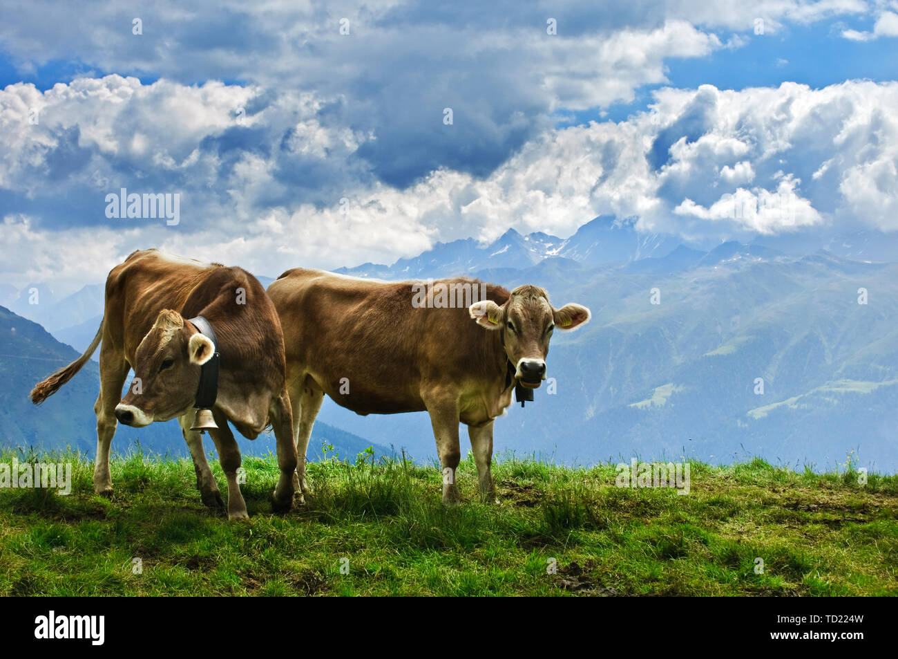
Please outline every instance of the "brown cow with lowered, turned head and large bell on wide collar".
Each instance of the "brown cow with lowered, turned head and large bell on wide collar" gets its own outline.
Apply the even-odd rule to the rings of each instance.
[[[216,344],[189,319],[202,316]],[[196,322],[201,323],[200,320]],[[117,265],[106,280],[100,329],[84,354],[35,385],[31,401],[40,403],[72,378],[101,343],[97,459],[93,487],[111,495],[109,454],[117,420],[141,427],[175,417],[190,449],[203,503],[221,505],[199,432],[191,431],[200,370],[219,353],[217,396],[210,430],[228,485],[228,517],[245,519],[246,503],[237,482],[240,450],[227,422],[255,439],[269,423],[277,439],[280,480],[274,503],[293,502],[296,450],[286,390],[284,340],[277,312],[259,281],[240,268],[199,263],[158,250],[138,251]],[[121,398],[133,369],[134,381]]]

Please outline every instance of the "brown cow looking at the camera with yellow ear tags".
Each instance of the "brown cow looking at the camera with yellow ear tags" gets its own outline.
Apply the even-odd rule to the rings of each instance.
[[[420,304],[421,282],[357,279],[297,268],[269,285],[284,329],[287,387],[299,458],[297,487],[307,492],[305,453],[323,395],[357,414],[427,410],[443,468],[443,501],[457,501],[459,422],[467,424],[480,493],[495,498],[490,475],[493,420],[515,384],[545,378],[552,331],[589,320],[589,309],[549,303],[544,289],[501,287],[464,278],[436,281],[449,302]],[[445,288],[441,288],[445,287]],[[462,291],[459,293],[459,291]],[[474,291],[485,291],[471,304]],[[427,293],[429,296],[430,293]],[[432,299],[432,298],[431,298]]]

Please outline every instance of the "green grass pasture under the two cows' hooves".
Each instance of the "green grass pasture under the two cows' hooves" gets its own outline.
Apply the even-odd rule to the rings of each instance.
[[[898,476],[858,485],[851,468],[691,462],[678,495],[615,487],[613,465],[509,458],[490,505],[469,456],[464,502],[447,508],[435,467],[331,460],[309,466],[313,494],[281,516],[275,460],[248,458],[252,519],[229,522],[202,506],[186,459],[117,459],[107,500],[84,455],[0,462],[13,457],[72,462],[74,485],[0,489],[2,595],[898,594]]]

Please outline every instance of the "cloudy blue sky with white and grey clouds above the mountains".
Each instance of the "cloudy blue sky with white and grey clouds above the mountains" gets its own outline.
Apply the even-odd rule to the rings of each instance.
[[[204,4],[0,8],[0,281],[71,291],[148,246],[277,276],[599,214],[898,230],[898,0]],[[121,188],[179,223],[107,217]]]

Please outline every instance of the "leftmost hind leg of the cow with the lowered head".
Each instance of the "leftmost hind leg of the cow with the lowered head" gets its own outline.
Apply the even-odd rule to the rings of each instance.
[[[110,474],[110,445],[119,422],[115,418],[115,406],[121,400],[121,387],[128,377],[128,361],[121,352],[111,348],[109,342],[100,348],[100,395],[93,405],[97,415],[97,459],[93,463],[93,491],[102,496],[112,496]]]

